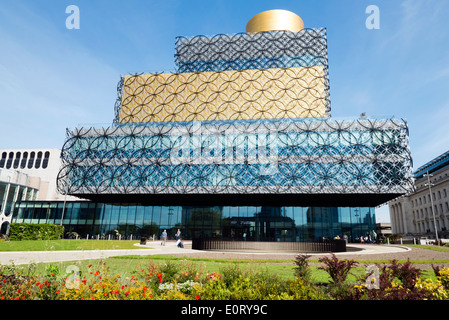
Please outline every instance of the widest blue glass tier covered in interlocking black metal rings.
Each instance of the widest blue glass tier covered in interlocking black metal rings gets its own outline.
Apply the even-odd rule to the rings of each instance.
[[[153,123],[69,131],[69,194],[404,193],[407,125],[388,120]]]

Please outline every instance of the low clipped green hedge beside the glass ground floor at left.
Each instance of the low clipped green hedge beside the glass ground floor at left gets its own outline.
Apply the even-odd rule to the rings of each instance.
[[[9,240],[59,240],[64,226],[55,224],[11,223]]]

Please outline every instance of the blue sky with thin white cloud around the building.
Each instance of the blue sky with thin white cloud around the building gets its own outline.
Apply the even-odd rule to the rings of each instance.
[[[176,36],[244,32],[271,9],[326,28],[332,117],[406,119],[414,170],[449,150],[449,0],[0,0],[0,149],[110,125],[120,76],[173,72]]]

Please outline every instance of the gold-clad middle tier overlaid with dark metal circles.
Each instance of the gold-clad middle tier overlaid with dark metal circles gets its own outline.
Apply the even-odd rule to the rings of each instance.
[[[125,76],[119,122],[324,117],[324,68]]]

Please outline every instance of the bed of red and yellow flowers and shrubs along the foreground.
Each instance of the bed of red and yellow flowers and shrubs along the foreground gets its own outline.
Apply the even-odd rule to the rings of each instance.
[[[61,272],[50,265],[46,272],[18,272],[0,266],[0,300],[447,300],[449,269],[434,267],[436,280],[422,280],[410,262],[393,260],[376,265],[357,283],[347,275],[357,263],[335,255],[320,259],[332,281],[310,281],[308,256],[298,255],[293,280],[282,280],[266,271],[247,271],[227,264],[220,272],[207,273],[201,264],[183,260],[156,265],[149,260],[133,276],[113,274],[105,263]],[[375,271],[375,272],[374,272]]]

